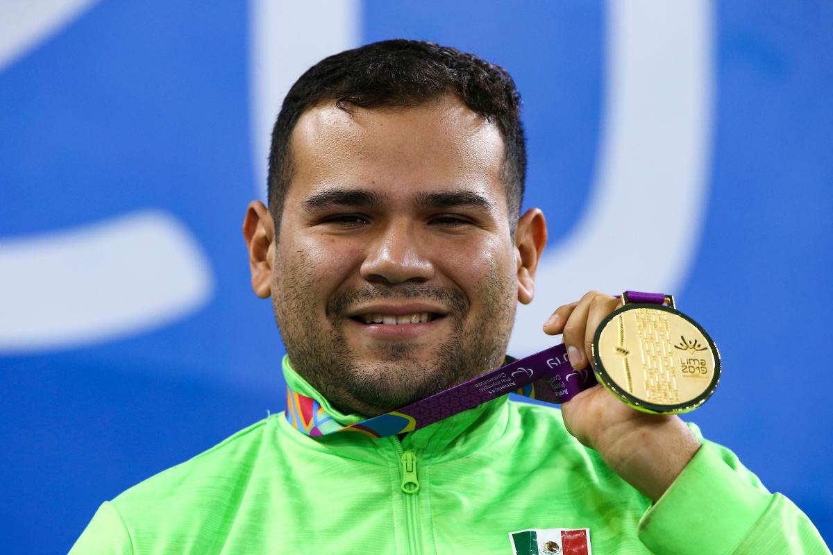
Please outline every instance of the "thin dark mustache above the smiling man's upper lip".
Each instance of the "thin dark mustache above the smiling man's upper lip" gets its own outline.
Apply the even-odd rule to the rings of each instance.
[[[453,287],[402,283],[395,286],[370,284],[361,289],[340,291],[327,301],[327,316],[343,316],[360,303],[374,300],[436,300],[452,316],[465,315],[469,310],[469,300],[461,290]]]

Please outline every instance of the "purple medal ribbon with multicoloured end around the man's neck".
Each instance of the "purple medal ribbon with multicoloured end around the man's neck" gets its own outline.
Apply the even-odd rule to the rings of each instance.
[[[287,420],[302,434],[322,436],[358,432],[372,438],[403,434],[473,409],[502,395],[516,393],[548,403],[565,403],[596,385],[592,369],[576,370],[567,360],[564,344],[523,359],[506,357],[508,364],[415,403],[357,424],[342,426],[315,399],[287,386]]]

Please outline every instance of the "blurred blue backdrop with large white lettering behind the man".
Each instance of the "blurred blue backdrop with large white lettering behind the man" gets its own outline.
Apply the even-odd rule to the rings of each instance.
[[[833,4],[668,4],[2,0],[2,551],[66,552],[103,500],[283,409],[242,217],[292,82],[390,37],[523,95],[551,242],[512,354],[586,290],[674,293],[724,364],[688,418],[830,543]]]

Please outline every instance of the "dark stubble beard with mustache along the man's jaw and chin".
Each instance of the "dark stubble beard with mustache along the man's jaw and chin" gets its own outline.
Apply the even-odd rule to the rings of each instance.
[[[332,331],[316,319],[311,293],[311,265],[297,260],[273,282],[272,305],[292,368],[345,414],[366,417],[384,414],[496,368],[506,354],[516,299],[514,276],[503,276],[491,265],[478,290],[483,310],[478,321],[466,319],[470,302],[461,290],[416,283],[370,284],[338,292],[327,302]],[[342,330],[345,313],[372,300],[436,300],[446,307],[451,334],[426,363],[416,357],[422,345],[378,341],[377,360],[363,364]]]

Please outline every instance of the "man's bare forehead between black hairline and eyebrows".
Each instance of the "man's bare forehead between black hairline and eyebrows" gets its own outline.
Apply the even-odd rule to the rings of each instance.
[[[466,190],[506,205],[500,131],[454,96],[418,107],[306,111],[292,131],[287,201],[328,186],[377,188],[386,197]]]

